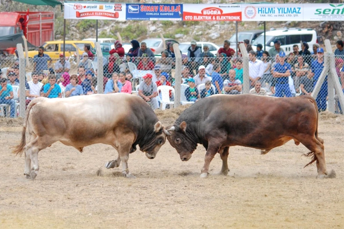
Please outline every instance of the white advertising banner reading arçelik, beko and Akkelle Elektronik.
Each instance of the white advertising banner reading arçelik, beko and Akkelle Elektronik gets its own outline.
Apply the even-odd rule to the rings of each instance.
[[[64,19],[126,20],[125,3],[64,3]]]

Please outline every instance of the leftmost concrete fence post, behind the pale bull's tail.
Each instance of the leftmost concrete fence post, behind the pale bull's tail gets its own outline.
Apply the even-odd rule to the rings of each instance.
[[[22,44],[17,44],[19,57],[19,117],[25,117],[25,57]],[[15,111],[17,112],[17,111]]]

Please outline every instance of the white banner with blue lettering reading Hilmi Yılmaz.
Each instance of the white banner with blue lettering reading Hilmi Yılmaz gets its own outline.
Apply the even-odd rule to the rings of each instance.
[[[243,4],[243,21],[302,21],[303,4]]]

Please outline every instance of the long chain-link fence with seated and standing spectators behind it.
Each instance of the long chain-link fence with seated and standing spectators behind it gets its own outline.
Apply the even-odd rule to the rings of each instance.
[[[99,44],[97,47],[100,53]],[[311,95],[319,111],[343,113],[340,101],[344,91],[344,56],[324,53],[322,49],[311,55],[299,52],[270,56],[263,52],[257,56],[250,52],[237,57],[233,53],[217,55],[205,48],[198,53],[181,53],[178,64],[179,55],[175,55],[173,47],[159,57],[149,53],[147,49],[140,55],[124,55],[112,50],[104,56],[83,53],[77,59],[63,55],[51,58],[43,52],[29,62],[24,56],[1,59],[1,77],[6,82],[1,83],[4,89],[0,93],[0,115],[17,117],[21,113],[23,117],[30,101],[40,96],[63,98],[118,92],[141,96],[153,109],[164,109],[175,99],[182,105],[192,104],[214,94]],[[181,77],[176,77],[178,68]],[[176,82],[176,78],[180,81]],[[177,97],[176,86],[180,88]]]

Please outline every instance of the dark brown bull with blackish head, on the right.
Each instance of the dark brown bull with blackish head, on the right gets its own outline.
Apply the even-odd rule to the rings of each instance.
[[[318,176],[327,175],[324,141],[318,137],[318,108],[311,96],[277,98],[257,95],[214,95],[187,108],[169,129],[170,144],[182,161],[202,144],[207,150],[201,177],[207,177],[216,153],[222,159],[222,174],[229,171],[230,146],[261,149],[262,154],[284,143],[300,142],[316,161]]]

